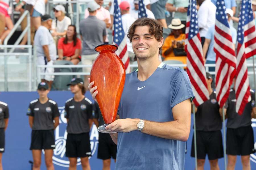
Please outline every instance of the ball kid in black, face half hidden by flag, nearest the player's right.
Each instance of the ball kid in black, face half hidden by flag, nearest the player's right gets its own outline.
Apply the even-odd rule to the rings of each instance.
[[[210,99],[195,108],[196,139],[197,139],[197,169],[204,169],[205,156],[208,155],[210,169],[219,169],[218,159],[223,157],[222,117],[216,92],[212,90],[212,76],[206,73],[207,88]],[[193,135],[194,139],[194,135]],[[195,145],[192,140],[191,156],[195,157]]]

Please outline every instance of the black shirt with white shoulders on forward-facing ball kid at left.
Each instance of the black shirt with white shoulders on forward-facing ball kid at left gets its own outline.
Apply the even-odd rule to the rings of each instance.
[[[34,117],[33,130],[51,130],[54,129],[54,118],[59,117],[60,114],[55,101],[48,99],[42,104],[36,99],[30,102],[27,115]]]

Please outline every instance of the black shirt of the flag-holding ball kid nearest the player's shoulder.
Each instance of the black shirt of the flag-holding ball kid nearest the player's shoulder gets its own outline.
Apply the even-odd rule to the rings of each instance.
[[[220,106],[216,100],[216,92],[212,92],[210,99],[197,108],[196,130],[217,131],[222,128],[222,119],[219,112]]]

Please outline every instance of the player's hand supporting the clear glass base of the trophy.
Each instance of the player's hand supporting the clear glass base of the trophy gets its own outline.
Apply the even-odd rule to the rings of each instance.
[[[110,125],[106,126],[107,130],[112,130],[115,132],[124,132],[128,133],[134,130],[137,130],[137,124],[139,123],[140,119],[117,119],[112,122]]]

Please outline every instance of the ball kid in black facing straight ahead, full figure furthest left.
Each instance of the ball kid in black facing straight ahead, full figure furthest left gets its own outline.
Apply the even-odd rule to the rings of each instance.
[[[38,84],[39,98],[30,102],[27,110],[29,125],[32,128],[31,145],[33,169],[40,169],[42,149],[45,152],[47,169],[54,169],[52,156],[55,148],[54,129],[59,125],[59,109],[55,101],[47,97],[48,84]]]

